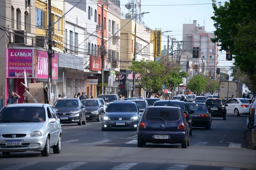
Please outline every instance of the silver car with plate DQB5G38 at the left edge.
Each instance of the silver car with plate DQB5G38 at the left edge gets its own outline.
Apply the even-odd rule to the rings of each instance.
[[[61,125],[49,104],[10,104],[0,111],[0,152],[61,151]]]

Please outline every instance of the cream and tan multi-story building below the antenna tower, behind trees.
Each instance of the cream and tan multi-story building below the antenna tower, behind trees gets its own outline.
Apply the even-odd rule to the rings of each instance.
[[[121,19],[121,26],[123,27],[130,20]],[[144,31],[145,28],[136,24],[136,60],[154,60],[153,58],[153,49],[151,43],[151,35],[147,31]],[[129,69],[131,61],[134,56],[134,38],[135,38],[135,21],[130,21],[120,33],[120,92],[125,96],[129,96],[130,92],[127,93],[128,84],[132,82],[133,73]],[[145,47],[145,48],[144,48]],[[145,96],[145,91],[136,85],[135,87],[135,96],[142,94]]]

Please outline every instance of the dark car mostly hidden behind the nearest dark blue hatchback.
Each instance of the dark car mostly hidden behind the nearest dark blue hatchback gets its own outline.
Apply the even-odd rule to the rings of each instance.
[[[189,124],[189,134],[192,135],[192,122],[189,122],[189,120],[192,120],[190,114],[194,113],[193,111],[189,112],[189,109],[185,102],[183,101],[175,101],[175,100],[161,100],[156,101],[153,106],[171,106],[171,107],[180,107],[183,113],[185,114],[185,117],[187,119],[187,122]],[[193,121],[193,120],[192,120]]]

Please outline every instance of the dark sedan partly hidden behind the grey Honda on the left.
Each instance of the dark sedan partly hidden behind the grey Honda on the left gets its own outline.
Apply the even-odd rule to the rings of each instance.
[[[97,99],[85,99],[81,100],[82,104],[85,106],[86,120],[97,120],[101,121],[101,113],[104,112],[101,102]]]

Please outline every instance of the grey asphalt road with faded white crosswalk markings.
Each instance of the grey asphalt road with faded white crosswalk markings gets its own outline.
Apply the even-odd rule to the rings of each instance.
[[[0,154],[1,170],[245,170],[256,168],[256,150],[247,149],[246,115],[213,118],[212,128],[193,128],[191,146],[137,147],[136,131],[101,131],[101,123],[62,125],[62,152]]]

